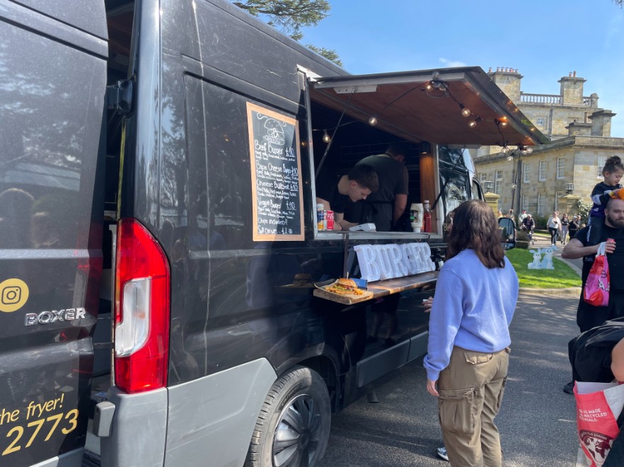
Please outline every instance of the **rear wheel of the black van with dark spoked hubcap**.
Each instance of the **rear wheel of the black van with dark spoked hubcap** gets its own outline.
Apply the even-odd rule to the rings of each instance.
[[[294,367],[273,384],[255,429],[245,467],[313,467],[325,454],[330,397],[320,375]]]

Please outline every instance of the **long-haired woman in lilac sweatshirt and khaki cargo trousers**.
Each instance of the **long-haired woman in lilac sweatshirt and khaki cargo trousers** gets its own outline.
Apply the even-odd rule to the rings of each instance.
[[[507,380],[517,298],[518,276],[504,256],[492,208],[466,201],[453,216],[424,357],[451,466],[502,466],[494,418]]]

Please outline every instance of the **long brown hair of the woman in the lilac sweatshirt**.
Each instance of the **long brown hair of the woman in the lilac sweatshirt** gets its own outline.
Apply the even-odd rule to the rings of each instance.
[[[462,203],[453,215],[446,259],[472,248],[486,268],[504,268],[504,249],[494,211],[484,201]]]

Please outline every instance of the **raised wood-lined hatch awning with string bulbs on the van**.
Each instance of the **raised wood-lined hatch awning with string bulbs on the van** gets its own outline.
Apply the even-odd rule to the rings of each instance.
[[[549,142],[478,66],[317,77],[311,78],[310,90],[311,100],[361,122],[375,117],[377,128],[408,141],[466,146]],[[470,110],[468,117],[462,106]]]

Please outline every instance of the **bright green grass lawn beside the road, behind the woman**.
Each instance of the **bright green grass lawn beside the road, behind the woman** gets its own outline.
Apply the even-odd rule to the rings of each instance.
[[[514,248],[505,254],[514,265],[520,287],[558,289],[581,286],[579,275],[560,259],[553,258],[554,269],[529,269],[527,265],[533,261],[533,250]]]

